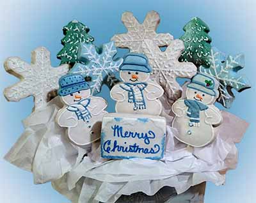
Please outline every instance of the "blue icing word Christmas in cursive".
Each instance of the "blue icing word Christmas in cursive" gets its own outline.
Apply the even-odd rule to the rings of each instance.
[[[157,154],[159,153],[161,147],[158,144],[154,144],[154,147],[140,147],[138,144],[134,143],[129,146],[121,146],[118,144],[117,140],[114,141],[111,147],[111,140],[107,140],[102,144],[102,149],[106,153],[110,152],[122,152],[122,153],[141,153],[141,154]]]

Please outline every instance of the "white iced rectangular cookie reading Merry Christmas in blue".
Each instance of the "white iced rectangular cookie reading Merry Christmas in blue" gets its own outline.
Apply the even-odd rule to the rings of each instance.
[[[102,158],[163,158],[166,119],[141,114],[107,114],[101,130]]]

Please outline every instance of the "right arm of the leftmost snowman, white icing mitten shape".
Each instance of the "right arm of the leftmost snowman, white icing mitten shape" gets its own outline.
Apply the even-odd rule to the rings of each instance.
[[[88,110],[92,114],[92,116],[99,115],[104,109],[108,107],[107,101],[98,96],[92,96],[91,102],[88,105]]]

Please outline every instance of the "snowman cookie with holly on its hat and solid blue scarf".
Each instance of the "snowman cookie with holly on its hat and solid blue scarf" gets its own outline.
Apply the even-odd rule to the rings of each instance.
[[[173,103],[173,128],[181,142],[203,147],[214,140],[214,126],[222,122],[220,110],[214,106],[219,96],[219,83],[214,77],[198,73],[186,89],[186,99]]]

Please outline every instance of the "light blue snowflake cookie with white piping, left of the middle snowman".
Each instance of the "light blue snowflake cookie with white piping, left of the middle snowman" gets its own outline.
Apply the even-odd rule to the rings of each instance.
[[[90,87],[92,94],[100,92],[102,83],[117,71],[123,63],[123,59],[113,60],[116,55],[116,47],[114,42],[104,43],[100,54],[97,52],[95,45],[81,43],[79,45],[78,57],[86,59],[86,64],[76,63],[69,73],[78,73],[83,77],[90,77]]]

